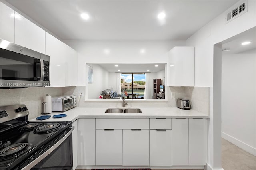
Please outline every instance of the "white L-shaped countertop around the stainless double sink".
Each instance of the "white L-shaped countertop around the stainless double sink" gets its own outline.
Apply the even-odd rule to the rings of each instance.
[[[209,118],[208,115],[194,110],[182,110],[177,107],[126,107],[140,108],[142,113],[105,113],[108,108],[118,107],[75,107],[66,112],[52,112],[49,119],[42,121],[59,122],[75,121],[78,118]],[[66,114],[66,117],[53,118],[53,115]],[[39,117],[42,115],[38,115]],[[36,117],[29,117],[29,121],[37,121]]]

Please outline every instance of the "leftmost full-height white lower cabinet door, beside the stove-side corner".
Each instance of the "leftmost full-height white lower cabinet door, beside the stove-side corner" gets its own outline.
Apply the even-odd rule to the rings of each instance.
[[[78,119],[78,166],[95,165],[95,119]]]

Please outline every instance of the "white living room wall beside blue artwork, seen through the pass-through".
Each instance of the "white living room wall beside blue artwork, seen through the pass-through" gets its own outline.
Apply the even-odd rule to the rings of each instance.
[[[108,71],[97,64],[89,65],[93,67],[93,82],[88,83],[88,88],[86,88],[87,99],[99,99],[103,90],[110,89],[108,86]],[[87,77],[87,75],[83,75],[83,77]]]

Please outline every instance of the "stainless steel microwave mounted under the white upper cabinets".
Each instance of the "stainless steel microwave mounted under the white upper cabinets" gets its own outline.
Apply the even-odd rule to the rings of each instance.
[[[0,39],[0,89],[50,85],[50,56]]]

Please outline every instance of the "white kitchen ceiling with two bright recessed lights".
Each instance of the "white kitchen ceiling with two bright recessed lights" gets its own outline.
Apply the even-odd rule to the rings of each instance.
[[[237,1],[6,0],[62,40],[186,40]]]

